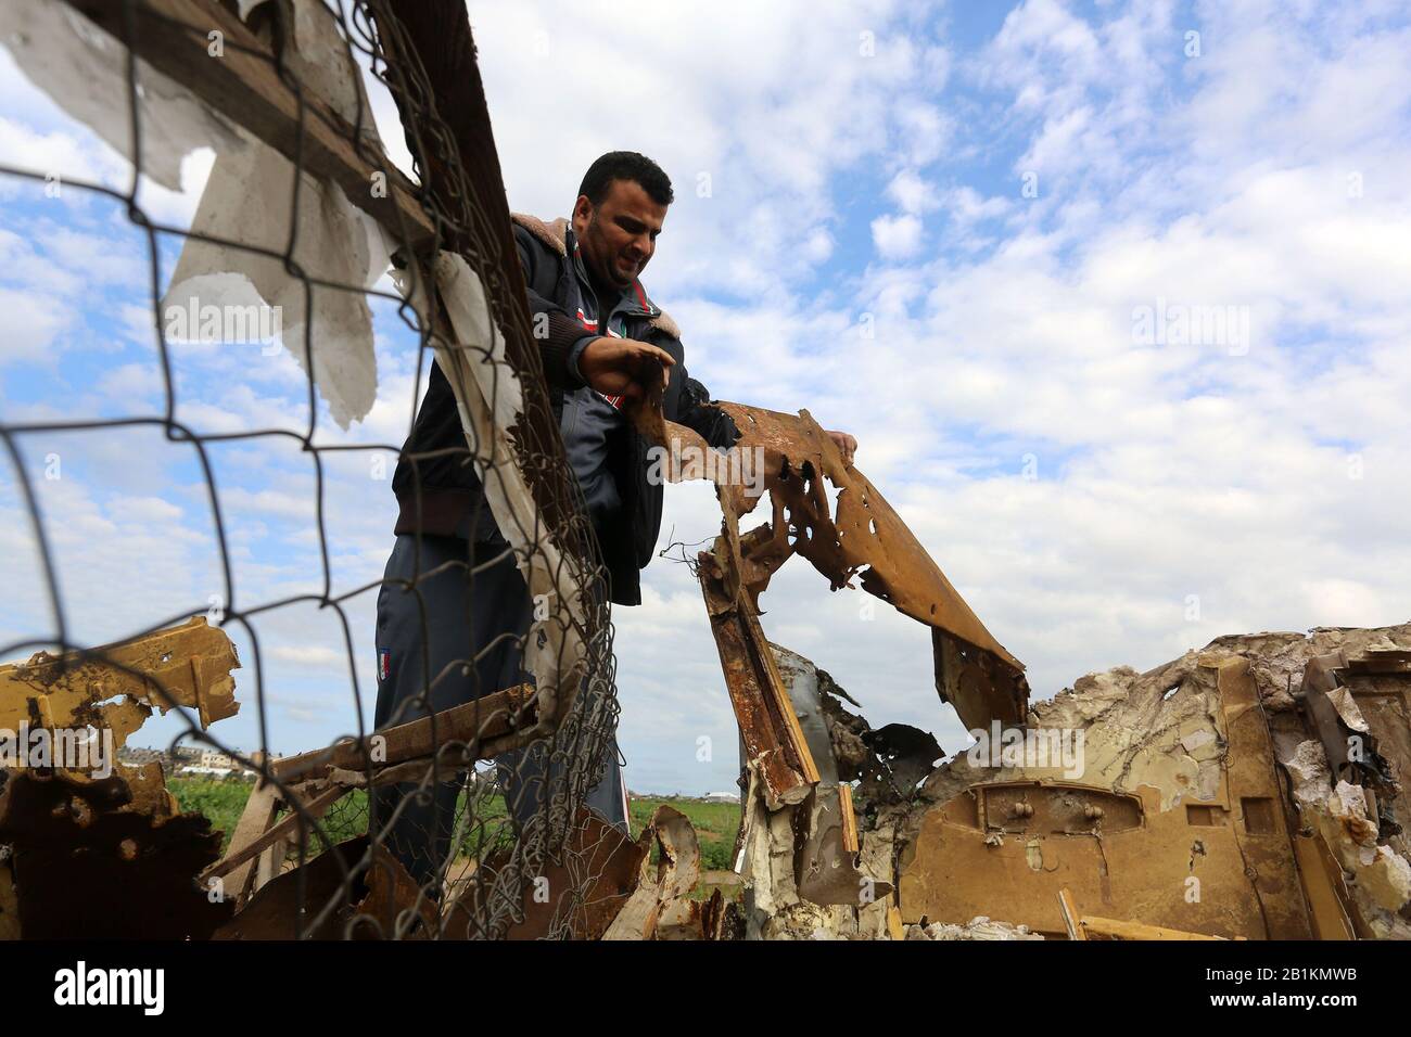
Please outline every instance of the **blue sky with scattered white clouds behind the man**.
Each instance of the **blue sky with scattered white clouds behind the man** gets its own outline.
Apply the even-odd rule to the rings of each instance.
[[[602,151],[676,182],[643,281],[724,399],[807,408],[886,494],[1048,697],[1221,633],[1411,618],[1411,17],[1404,3],[473,3],[511,206],[566,214]],[[395,110],[374,96],[389,150]],[[121,188],[127,164],[0,54],[0,162]],[[141,203],[182,226],[210,169]],[[148,243],[126,207],[0,176],[0,415],[151,416],[164,381]],[[51,192],[52,193],[52,192]],[[158,284],[179,243],[159,245]],[[378,401],[320,443],[396,444],[415,340],[374,305]],[[202,432],[308,420],[288,353],[174,347]],[[133,426],[17,440],[71,636],[97,643],[224,595],[189,444]],[[236,604],[323,593],[315,471],[292,437],[210,447]],[[325,456],[334,594],[381,576],[395,514],[375,454]],[[380,475],[382,475],[380,478]],[[718,526],[667,492],[662,547]],[[0,643],[54,617],[13,471],[0,477]],[[374,591],[343,626],[261,612],[265,721],[293,752],[374,691]],[[700,594],[656,560],[617,610],[628,782],[728,787],[735,727]],[[965,736],[930,642],[801,560],[766,633],[880,725]],[[219,604],[229,604],[223,600]],[[248,635],[241,717],[258,745]],[[13,655],[27,655],[25,645]],[[354,690],[354,677],[357,690]],[[157,744],[171,720],[138,736]],[[710,759],[698,759],[701,738]]]

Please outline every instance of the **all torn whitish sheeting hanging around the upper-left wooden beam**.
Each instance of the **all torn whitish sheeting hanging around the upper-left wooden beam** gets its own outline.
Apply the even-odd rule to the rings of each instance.
[[[284,54],[286,71],[306,96],[347,124],[361,126],[363,135],[378,142],[361,73],[333,14],[313,0],[282,3],[281,8],[293,27],[293,45]],[[241,16],[247,13],[248,6]],[[134,161],[127,48],[61,3],[13,0],[6,20],[3,40],[21,71],[66,113]],[[268,316],[255,339],[279,339],[306,372],[312,346],[313,380],[333,420],[344,429],[361,420],[377,398],[367,301],[357,291],[306,285],[286,269],[282,255],[292,233],[291,258],[306,277],[371,288],[388,267],[389,245],[381,226],[354,207],[337,185],[308,174],[299,175],[299,219],[291,226],[295,186],[288,159],[145,62],[137,62],[137,78],[143,172],[169,190],[181,190],[185,155],[214,150],[216,162],[190,231],[274,253],[260,255],[188,237],[164,312],[219,308],[244,313],[257,299]]]

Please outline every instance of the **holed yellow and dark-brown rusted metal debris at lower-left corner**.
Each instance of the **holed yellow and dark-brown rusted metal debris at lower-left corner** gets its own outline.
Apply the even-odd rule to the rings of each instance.
[[[234,715],[238,666],[205,617],[83,652],[40,652],[0,666],[0,728],[93,727],[116,752],[154,708],[186,705],[202,724]],[[0,938],[203,940],[229,917],[234,904],[198,885],[220,834],[179,813],[159,763],[54,763],[0,770]]]

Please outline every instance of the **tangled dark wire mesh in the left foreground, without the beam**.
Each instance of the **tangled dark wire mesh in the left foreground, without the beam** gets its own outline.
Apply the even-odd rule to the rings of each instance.
[[[121,203],[131,226],[145,238],[150,269],[148,293],[143,299],[143,306],[150,310],[151,316],[152,347],[164,381],[164,405],[161,411],[154,413],[110,419],[7,420],[0,416],[0,440],[4,443],[13,471],[14,492],[30,518],[38,567],[52,617],[51,629],[35,629],[30,636],[0,646],[0,657],[14,659],[30,652],[44,650],[76,653],[68,657],[69,665],[103,660],[121,667],[102,648],[82,643],[73,635],[68,618],[68,602],[58,578],[58,559],[49,535],[55,518],[44,512],[40,495],[31,485],[31,474],[25,464],[25,443],[37,436],[59,433],[100,437],[128,427],[157,429],[168,443],[178,449],[190,450],[199,466],[223,581],[219,621],[223,628],[243,633],[251,648],[251,657],[243,660],[244,674],[248,674],[248,680],[241,676],[237,690],[241,701],[247,707],[254,707],[260,755],[241,753],[223,741],[219,725],[213,729],[202,729],[192,717],[179,708],[175,710],[175,715],[181,715],[185,722],[181,734],[172,741],[172,746],[178,742],[210,746],[240,760],[244,766],[260,770],[267,780],[279,789],[285,803],[284,810],[292,810],[303,820],[303,824],[293,830],[293,834],[282,844],[282,854],[279,852],[281,844],[277,844],[271,851],[282,858],[275,861],[272,869],[275,875],[298,872],[288,879],[296,883],[295,899],[298,903],[298,910],[289,918],[291,931],[298,937],[326,933],[332,921],[336,923],[340,935],[373,933],[387,937],[415,933],[416,935],[454,935],[459,938],[504,937],[525,917],[526,896],[535,887],[535,880],[547,869],[557,868],[556,875],[562,872],[571,878],[564,889],[550,890],[553,917],[540,934],[556,938],[573,935],[573,914],[581,907],[587,890],[597,878],[590,873],[591,868],[587,863],[590,858],[597,858],[584,851],[583,847],[574,847],[573,837],[576,831],[581,831],[581,811],[588,790],[598,783],[605,773],[610,755],[615,753],[614,731],[618,704],[612,629],[604,574],[595,563],[593,528],[586,518],[581,497],[566,464],[562,444],[557,442],[553,408],[542,371],[538,367],[532,339],[525,327],[522,301],[515,299],[515,292],[522,292],[522,289],[502,275],[494,260],[497,251],[492,243],[497,223],[490,213],[494,213],[497,207],[502,210],[504,199],[478,198],[470,186],[461,166],[454,134],[436,111],[433,90],[426,82],[425,72],[411,59],[405,45],[395,48],[395,56],[391,52],[394,48],[387,47],[385,34],[389,27],[391,31],[395,31],[395,23],[388,18],[385,8],[375,0],[371,3],[357,0],[325,4],[337,21],[347,56],[371,71],[371,75],[391,92],[402,114],[408,147],[416,164],[413,171],[416,200],[423,206],[436,233],[428,241],[423,236],[413,233],[412,227],[389,226],[387,220],[382,223],[382,230],[395,241],[394,262],[399,268],[401,278],[412,291],[420,289],[430,305],[418,308],[401,293],[387,292],[377,286],[367,288],[361,284],[334,282],[305,269],[295,254],[301,206],[310,203],[303,188],[303,176],[306,172],[305,145],[312,120],[323,120],[325,124],[334,126],[363,159],[368,162],[385,162],[385,159],[375,144],[371,144],[371,137],[367,133],[371,126],[371,111],[367,110],[361,93],[358,93],[357,119],[353,120],[351,126],[340,124],[339,120],[330,121],[326,109],[309,95],[308,85],[291,71],[285,59],[288,48],[292,45],[291,7],[282,3],[268,3],[258,7],[251,20],[253,25],[260,24],[265,28],[270,40],[268,49],[265,47],[246,48],[234,40],[227,40],[224,45],[268,65],[298,97],[298,142],[293,154],[286,155],[292,162],[286,247],[284,250],[260,248],[243,240],[200,234],[190,227],[164,223],[147,212],[140,200],[140,183],[150,158],[145,144],[150,127],[143,124],[141,82],[144,65],[137,56],[141,49],[137,14],[150,18],[151,11],[140,11],[138,8],[144,7],[140,0],[123,0],[120,6],[123,37],[131,44],[127,52],[127,96],[124,99],[126,116],[133,127],[130,188],[116,190],[96,181],[80,182],[76,179],[69,179],[66,186],[96,192]],[[179,23],[172,23],[172,27],[188,34],[192,31],[189,25]],[[494,147],[488,138],[481,144],[485,148]],[[0,166],[0,174],[6,178],[42,182],[47,171],[6,164]],[[440,179],[437,181],[437,178]],[[499,219],[502,219],[502,212]],[[279,262],[286,275],[302,285],[305,312],[309,315],[308,320],[303,322],[302,341],[285,343],[291,353],[298,350],[305,357],[303,370],[308,375],[306,423],[302,432],[295,433],[278,427],[210,430],[199,427],[193,420],[178,418],[179,384],[174,374],[172,346],[162,319],[162,299],[168,284],[166,271],[161,262],[161,244],[164,241],[185,243],[190,238],[264,255]],[[408,453],[404,446],[391,443],[320,442],[315,360],[320,351],[325,329],[319,327],[316,320],[319,312],[313,305],[316,293],[361,293],[370,299],[384,299],[395,305],[399,319],[418,341],[416,377],[412,382],[413,396],[411,401],[399,401],[399,404],[406,405],[408,430],[415,422],[416,399],[430,377],[430,361],[437,346],[447,350],[464,348],[476,353],[477,357],[488,357],[484,348],[449,341],[444,326],[437,329],[436,320],[428,316],[439,309],[437,295],[440,289],[432,275],[430,262],[440,250],[456,251],[478,275],[485,289],[492,326],[504,330],[511,339],[511,344],[521,350],[518,356],[522,367],[528,367],[528,370],[516,371],[522,377],[525,392],[522,419],[511,430],[514,456],[508,460],[502,456],[495,457],[491,444],[481,443],[474,436],[470,436],[461,446],[428,453]],[[497,399],[492,398],[488,402],[490,413],[497,413]],[[237,566],[231,559],[229,519],[223,507],[222,490],[217,485],[216,466],[212,460],[212,450],[217,444],[240,442],[292,442],[310,461],[316,487],[315,533],[322,560],[322,571],[319,573],[322,593],[247,600],[243,584],[236,578]],[[542,618],[536,617],[532,628],[528,622],[514,625],[508,636],[499,636],[492,643],[476,642],[474,617],[470,615],[473,610],[467,608],[464,617],[450,619],[460,631],[459,636],[464,642],[464,650],[457,653],[452,665],[436,673],[430,672],[430,653],[426,650],[423,653],[426,665],[420,672],[420,691],[398,703],[398,710],[389,718],[388,727],[425,715],[436,703],[444,704],[444,696],[437,696],[443,683],[446,687],[452,687],[459,681],[460,686],[468,689],[460,693],[464,701],[480,701],[484,696],[504,690],[504,687],[487,686],[481,680],[480,665],[494,653],[509,653],[512,659],[521,660],[522,667],[526,639],[542,636],[545,622],[574,622],[586,655],[581,669],[583,681],[579,694],[573,698],[571,710],[560,718],[556,729],[539,732],[526,746],[521,746],[518,756],[498,753],[498,763],[485,759],[490,742],[483,735],[490,729],[488,717],[484,725],[478,721],[473,722],[470,725],[471,734],[456,739],[449,738],[444,729],[437,729],[440,727],[437,718],[443,714],[432,714],[432,751],[429,756],[423,753],[416,758],[425,766],[406,777],[401,786],[404,792],[411,789],[415,792],[405,796],[394,794],[388,799],[381,793],[370,794],[367,787],[351,787],[320,811],[310,810],[308,806],[315,799],[317,789],[299,786],[296,779],[281,777],[268,763],[272,741],[268,715],[270,700],[278,689],[267,676],[268,667],[260,639],[261,621],[281,610],[309,605],[336,617],[349,674],[346,693],[350,717],[344,738],[363,739],[371,734],[364,711],[371,701],[370,689],[373,686],[365,680],[365,674],[370,673],[375,660],[356,656],[354,619],[350,617],[354,601],[364,598],[364,595],[375,597],[392,591],[412,595],[420,610],[420,641],[425,646],[432,636],[429,622],[433,618],[428,615],[429,602],[423,597],[428,581],[437,576],[456,574],[457,580],[464,581],[464,600],[467,602],[473,602],[474,608],[478,610],[495,610],[501,602],[492,597],[487,598],[485,593],[480,590],[485,586],[487,573],[502,571],[505,559],[509,556],[522,567],[528,563],[528,554],[532,553],[532,550],[514,549],[504,543],[490,549],[485,543],[477,543],[474,538],[470,538],[457,542],[457,556],[446,559],[436,567],[428,567],[425,563],[432,552],[423,543],[426,538],[418,532],[412,570],[408,576],[384,577],[350,590],[336,590],[330,566],[334,545],[330,543],[326,523],[329,484],[326,466],[334,451],[381,453],[409,464],[418,498],[423,491],[422,473],[429,464],[446,456],[453,456],[466,464],[471,463],[471,459],[477,459],[481,464],[490,459],[490,464],[484,470],[487,481],[502,478],[507,463],[512,463],[531,485],[538,505],[531,521],[519,529],[521,539],[531,549],[552,543],[563,552],[563,556],[571,562],[567,578],[577,587],[583,602],[583,611],[577,619],[570,619],[564,610],[556,610],[547,619],[540,621]],[[418,499],[418,508],[419,504]],[[477,508],[484,507],[487,505],[481,497]],[[471,529],[477,528],[477,521],[478,515],[473,515]],[[82,591],[82,588],[79,590]],[[189,615],[207,612],[207,607],[206,601],[192,602],[190,608],[176,611],[165,619],[144,625],[141,629],[133,629],[121,641],[141,638],[181,622]],[[435,619],[442,624],[447,622],[446,617],[435,617]],[[571,660],[560,662],[566,670],[570,669]],[[137,672],[133,673],[141,676]],[[463,680],[467,676],[471,680]],[[175,698],[159,684],[152,687],[152,697],[176,705]],[[526,725],[531,720],[532,717],[525,710],[516,710],[511,717],[511,732],[516,727]],[[495,728],[495,732],[501,736],[495,745],[511,744],[502,738],[501,728]],[[515,770],[516,760],[522,760],[525,753],[532,753],[539,759],[543,789],[538,793],[531,792],[523,782],[514,780],[518,773]],[[375,783],[377,773],[373,763],[368,762],[361,770],[361,784]],[[358,784],[356,776],[346,773],[341,780],[353,786]],[[413,841],[423,839],[416,851],[426,852],[429,848],[435,858],[435,866],[420,883],[416,903],[411,907],[399,904],[404,910],[395,917],[394,931],[385,931],[385,917],[358,914],[347,910],[347,904],[358,900],[361,892],[373,880],[378,862],[385,861],[384,849],[391,849],[394,856],[405,856],[406,837],[398,837],[401,838],[401,845],[398,845],[392,835],[394,828],[399,818],[413,810],[416,803],[432,797],[436,789],[452,789],[454,796],[449,851],[444,854],[437,851],[435,832],[426,831],[420,838],[412,837]],[[442,800],[446,800],[446,793],[442,793]],[[444,823],[444,817],[436,820],[437,825]],[[358,837],[365,837],[365,839],[358,841]],[[315,896],[302,879],[306,871],[305,865],[317,855],[330,852],[339,875],[337,889],[332,895]],[[452,918],[454,923],[450,921]]]

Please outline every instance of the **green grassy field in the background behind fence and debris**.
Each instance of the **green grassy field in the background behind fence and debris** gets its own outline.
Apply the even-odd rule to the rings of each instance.
[[[224,832],[222,852],[230,844],[230,832],[236,828],[246,800],[254,789],[253,782],[213,777],[174,777],[166,783],[182,811],[205,814],[212,828]],[[632,835],[641,835],[652,818],[658,804],[666,803],[682,811],[696,827],[701,845],[701,868],[704,871],[728,871],[731,851],[735,845],[735,830],[739,827],[739,806],[735,803],[704,803],[691,799],[634,799],[631,804]],[[484,821],[478,831],[466,834],[461,852],[478,856],[488,842],[509,835],[508,827],[499,824],[505,815],[505,804],[498,796],[483,800],[477,815]],[[354,790],[336,803],[323,818],[325,827],[334,842],[361,835],[367,830],[367,793]],[[310,848],[317,849],[317,848]]]

